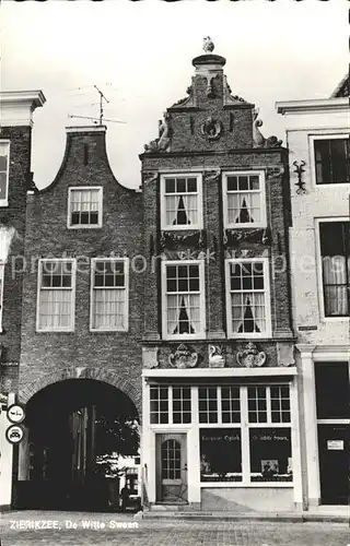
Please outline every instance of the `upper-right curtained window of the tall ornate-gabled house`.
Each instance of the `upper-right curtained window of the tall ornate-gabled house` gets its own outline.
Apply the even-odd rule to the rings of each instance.
[[[266,227],[264,173],[224,175],[225,227]]]

